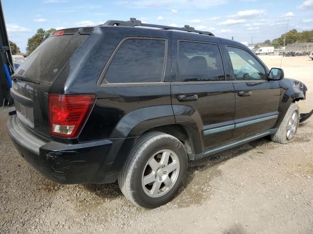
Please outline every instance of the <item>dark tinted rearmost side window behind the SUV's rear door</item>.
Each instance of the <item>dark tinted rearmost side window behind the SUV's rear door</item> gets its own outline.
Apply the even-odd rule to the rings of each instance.
[[[161,82],[165,50],[165,39],[125,40],[115,52],[102,83]]]

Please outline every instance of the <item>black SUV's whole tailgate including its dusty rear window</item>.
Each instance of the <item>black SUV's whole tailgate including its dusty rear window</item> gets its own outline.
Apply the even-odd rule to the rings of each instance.
[[[50,137],[50,87],[91,31],[92,28],[75,28],[54,32],[30,54],[12,76],[14,82],[11,96],[15,101],[17,117],[30,131]]]

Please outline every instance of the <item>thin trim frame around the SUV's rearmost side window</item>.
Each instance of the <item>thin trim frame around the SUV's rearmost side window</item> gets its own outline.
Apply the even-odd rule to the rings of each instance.
[[[120,49],[120,47],[124,44],[125,41],[129,40],[129,39],[148,39],[148,40],[164,40],[165,41],[165,48],[164,48],[164,62],[163,62],[163,70],[162,70],[162,77],[161,77],[161,81],[160,82],[140,82],[140,83],[109,83],[109,82],[105,82],[102,83],[105,80],[105,75],[110,67],[110,64],[112,62],[112,60],[114,59],[116,53],[118,52],[118,50]],[[121,85],[121,84],[159,84],[159,83],[163,83],[164,81],[164,76],[165,76],[165,69],[166,69],[166,61],[167,61],[167,48],[168,48],[168,42],[167,39],[164,38],[147,38],[147,37],[127,37],[122,39],[118,45],[116,46],[116,48],[114,49],[112,55],[110,56],[110,59],[108,60],[107,64],[105,65],[105,67],[103,68],[98,81],[97,81],[97,86],[99,87],[103,87],[103,86],[109,86],[109,85]]]

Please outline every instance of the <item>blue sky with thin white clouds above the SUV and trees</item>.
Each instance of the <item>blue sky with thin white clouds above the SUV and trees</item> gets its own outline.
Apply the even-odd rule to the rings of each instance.
[[[14,4],[13,4],[14,2]],[[134,17],[148,23],[211,31],[262,42],[288,29],[313,30],[313,0],[2,0],[9,39],[25,52],[38,28],[97,25]]]

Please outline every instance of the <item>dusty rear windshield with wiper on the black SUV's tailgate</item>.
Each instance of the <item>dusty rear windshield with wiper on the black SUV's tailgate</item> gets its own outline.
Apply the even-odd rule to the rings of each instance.
[[[28,78],[53,81],[88,35],[49,37],[22,63],[17,73]]]

